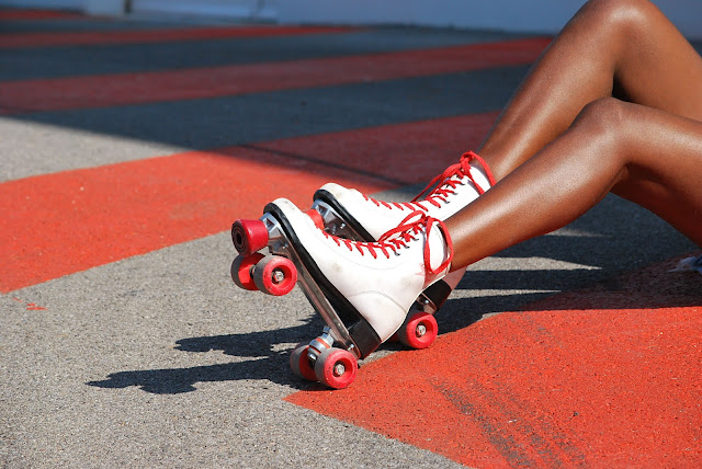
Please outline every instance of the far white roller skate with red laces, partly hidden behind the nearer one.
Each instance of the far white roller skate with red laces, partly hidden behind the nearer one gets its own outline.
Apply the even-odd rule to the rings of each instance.
[[[494,184],[495,178],[487,163],[469,151],[458,163],[434,178],[411,202],[376,201],[355,190],[329,183],[315,193],[313,208],[319,213],[329,232],[342,238],[375,241],[415,210],[445,220]],[[431,187],[434,188],[428,193]],[[464,273],[465,268],[452,272],[431,285],[417,299],[421,309],[430,314],[437,312]]]

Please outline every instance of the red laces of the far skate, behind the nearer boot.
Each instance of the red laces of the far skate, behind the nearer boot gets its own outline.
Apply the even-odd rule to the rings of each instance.
[[[431,182],[427,184],[427,187],[424,187],[419,194],[417,194],[417,196],[412,198],[410,202],[383,202],[383,201],[376,201],[369,196],[365,196],[365,198],[373,202],[375,205],[384,205],[387,208],[397,207],[400,210],[409,208],[410,210],[420,209],[420,210],[427,211],[428,208],[422,204],[429,203],[435,207],[441,207],[442,202],[443,203],[448,202],[449,195],[455,194],[454,188],[456,187],[456,185],[461,184],[461,181],[463,180],[464,176],[468,178],[468,180],[473,183],[473,186],[478,192],[478,194],[483,195],[485,193],[485,190],[480,187],[480,185],[475,181],[475,179],[473,178],[473,174],[471,173],[472,161],[477,161],[478,163],[480,163],[480,165],[485,169],[485,172],[487,174],[488,181],[490,182],[490,185],[495,185],[495,178],[492,178],[492,173],[488,168],[487,163],[485,162],[485,160],[483,160],[483,158],[480,158],[473,151],[467,151],[461,156],[461,161],[458,161],[456,164],[453,164],[446,168],[446,170],[443,173],[432,179]],[[419,198],[422,195],[424,195],[427,191],[433,187],[434,184],[442,181],[443,183],[437,186],[433,191],[431,191],[423,201],[419,201]]]

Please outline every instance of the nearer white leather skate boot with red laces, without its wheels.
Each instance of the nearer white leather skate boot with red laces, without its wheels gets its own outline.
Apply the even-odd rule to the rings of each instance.
[[[376,242],[319,229],[293,203],[265,207],[366,356],[403,325],[418,295],[449,272],[451,239],[442,221],[416,210]]]

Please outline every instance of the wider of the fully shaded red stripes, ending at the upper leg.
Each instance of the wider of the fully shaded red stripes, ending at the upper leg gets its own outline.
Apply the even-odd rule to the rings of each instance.
[[[8,81],[0,83],[0,114],[191,100],[531,64],[547,44],[546,38],[530,38],[290,62]]]

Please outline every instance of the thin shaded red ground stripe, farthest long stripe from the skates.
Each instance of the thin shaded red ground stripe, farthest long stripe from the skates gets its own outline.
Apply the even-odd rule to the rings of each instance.
[[[105,31],[80,33],[8,34],[0,48],[54,47],[100,44],[145,44],[174,41],[228,39],[236,37],[294,36],[303,34],[331,34],[356,31],[333,26],[237,26],[197,27],[188,30]]]

